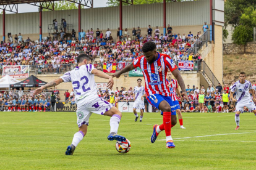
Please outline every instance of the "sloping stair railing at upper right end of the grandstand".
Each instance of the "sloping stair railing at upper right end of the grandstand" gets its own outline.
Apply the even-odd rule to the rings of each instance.
[[[202,36],[200,36],[200,38],[198,38],[194,44],[191,44],[190,49],[187,51],[188,54],[190,52],[194,52],[194,54],[196,54],[203,46],[208,46],[208,41],[210,39],[210,31],[207,30],[205,31]]]

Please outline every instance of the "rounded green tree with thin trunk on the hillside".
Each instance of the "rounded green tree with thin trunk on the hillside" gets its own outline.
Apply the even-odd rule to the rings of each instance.
[[[247,42],[252,41],[252,39],[252,27],[247,25],[236,26],[232,34],[232,40],[234,44],[244,45],[244,53],[245,45],[247,44]]]

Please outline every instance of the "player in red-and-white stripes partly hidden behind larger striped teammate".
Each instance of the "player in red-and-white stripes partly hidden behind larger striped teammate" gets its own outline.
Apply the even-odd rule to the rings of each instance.
[[[177,80],[172,79],[171,76],[172,76],[171,71],[168,71],[166,81],[167,81],[168,87],[171,91],[171,100],[173,100],[173,104],[174,104],[176,113],[177,113],[178,118],[179,118],[179,125],[181,126],[181,129],[186,129],[186,127],[183,126],[183,119],[182,119],[182,115],[181,115],[181,107],[179,105],[179,101],[178,101],[177,95],[176,95],[176,92],[177,92],[179,97],[181,97],[181,92],[178,89],[179,85],[177,84]],[[177,89],[177,91],[176,91],[176,89]],[[163,113],[161,113],[161,115],[163,115]]]

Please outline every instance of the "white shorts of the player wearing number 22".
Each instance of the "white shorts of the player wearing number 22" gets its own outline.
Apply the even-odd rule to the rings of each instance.
[[[104,115],[104,113],[112,107],[113,105],[111,103],[106,102],[100,97],[86,105],[77,106],[77,125],[79,127],[82,126],[82,124],[89,125],[89,118],[92,113]]]

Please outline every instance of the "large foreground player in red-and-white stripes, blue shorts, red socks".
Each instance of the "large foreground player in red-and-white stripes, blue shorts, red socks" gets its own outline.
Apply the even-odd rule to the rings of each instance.
[[[171,70],[184,92],[186,91],[185,84],[171,57],[156,52],[156,44],[154,42],[146,42],[142,47],[142,52],[144,55],[138,57],[123,70],[115,73],[113,77],[119,78],[122,73],[134,70],[137,67],[141,68],[145,79],[145,92],[148,102],[163,111],[163,124],[160,126],[155,124],[153,126],[151,142],[154,143],[158,134],[165,130],[166,148],[174,148],[171,127],[177,123],[177,118],[174,104],[171,100],[171,92],[166,85],[167,71]]]

